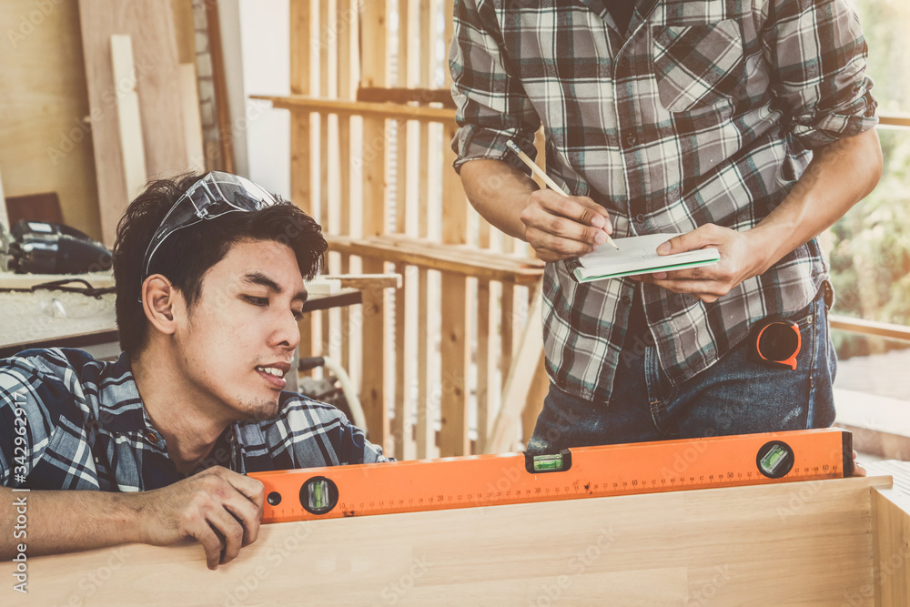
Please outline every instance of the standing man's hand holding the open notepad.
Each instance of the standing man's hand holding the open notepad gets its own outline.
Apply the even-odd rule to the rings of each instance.
[[[631,278],[651,282],[674,293],[689,293],[711,303],[746,278],[758,276],[767,269],[767,249],[761,247],[750,232],[737,232],[714,224],[706,224],[688,234],[671,238],[658,247],[657,252],[671,255],[708,247],[717,248],[721,254],[721,260],[716,264]]]

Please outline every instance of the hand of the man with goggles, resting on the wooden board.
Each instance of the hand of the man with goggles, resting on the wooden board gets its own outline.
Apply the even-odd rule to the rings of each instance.
[[[216,467],[162,489],[136,495],[139,537],[167,546],[196,538],[209,569],[237,557],[259,534],[265,491],[260,481]]]

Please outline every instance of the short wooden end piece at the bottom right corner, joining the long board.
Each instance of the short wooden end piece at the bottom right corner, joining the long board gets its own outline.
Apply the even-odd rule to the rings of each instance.
[[[876,605],[910,604],[910,496],[873,489],[872,512],[875,586],[854,589],[847,602],[874,593]]]

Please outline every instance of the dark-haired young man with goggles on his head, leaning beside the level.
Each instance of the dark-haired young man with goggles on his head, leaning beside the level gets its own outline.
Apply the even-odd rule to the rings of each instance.
[[[0,361],[0,558],[20,541],[32,556],[194,537],[215,569],[258,534],[263,487],[245,473],[384,460],[338,410],[282,391],[326,248],[312,218],[242,177],[137,197],[114,248],[120,358]],[[45,491],[15,540],[23,486]]]

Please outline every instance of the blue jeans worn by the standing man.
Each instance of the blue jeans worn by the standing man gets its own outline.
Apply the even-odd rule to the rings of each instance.
[[[787,317],[802,339],[796,370],[754,362],[751,340],[744,339],[712,367],[673,387],[652,339],[630,351],[627,339],[610,403],[579,399],[551,382],[528,450],[827,428],[834,423],[837,368],[829,305],[823,286],[808,306]],[[646,330],[642,335],[650,338]]]

